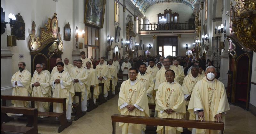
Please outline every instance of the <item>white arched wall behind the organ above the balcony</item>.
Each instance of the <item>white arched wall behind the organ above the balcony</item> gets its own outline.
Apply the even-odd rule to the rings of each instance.
[[[194,18],[192,16],[193,10],[186,4],[182,3],[164,3],[164,10],[167,9],[172,10],[172,13],[178,12],[179,13],[179,23],[185,23],[190,18]],[[155,4],[148,8],[148,10],[145,12],[146,19],[149,20],[149,23],[157,23],[157,14],[158,13],[164,13],[163,12],[163,4]]]

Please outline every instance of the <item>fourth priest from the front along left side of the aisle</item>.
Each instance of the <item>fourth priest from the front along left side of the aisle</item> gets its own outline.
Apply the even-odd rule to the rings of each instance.
[[[96,66],[95,72],[96,72],[99,83],[104,83],[103,94],[104,94],[104,98],[106,98],[108,97],[108,91],[110,86],[109,80],[111,79],[111,75],[109,73],[108,66],[104,64],[103,57],[100,58],[100,64]]]

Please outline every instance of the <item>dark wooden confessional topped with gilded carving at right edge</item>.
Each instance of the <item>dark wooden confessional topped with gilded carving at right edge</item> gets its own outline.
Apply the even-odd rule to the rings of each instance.
[[[256,1],[230,3],[227,96],[231,103],[249,108],[252,52],[256,52]]]

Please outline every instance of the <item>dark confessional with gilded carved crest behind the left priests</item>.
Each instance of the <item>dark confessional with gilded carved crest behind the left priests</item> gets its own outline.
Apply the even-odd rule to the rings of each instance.
[[[46,69],[52,71],[56,66],[56,59],[61,58],[63,53],[63,42],[60,37],[60,27],[58,27],[57,13],[48,18],[45,27],[40,27],[40,36],[36,37],[36,23],[32,22],[28,48],[31,54],[31,69],[35,70],[36,64],[45,63]]]

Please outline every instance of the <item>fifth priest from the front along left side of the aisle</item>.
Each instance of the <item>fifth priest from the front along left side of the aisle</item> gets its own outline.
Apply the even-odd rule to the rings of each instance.
[[[117,84],[117,73],[116,73],[116,67],[113,65],[112,59],[108,60],[108,70],[111,75],[110,80],[112,80],[112,94],[115,94],[115,90],[116,90],[115,87]]]

